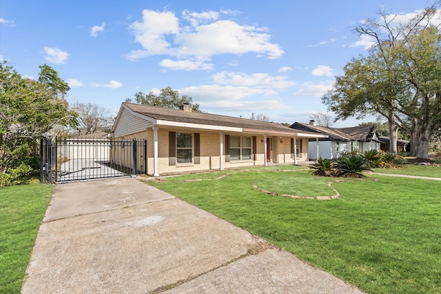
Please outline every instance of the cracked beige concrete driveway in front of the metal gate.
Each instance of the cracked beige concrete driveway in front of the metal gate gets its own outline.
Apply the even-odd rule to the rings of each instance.
[[[22,293],[361,293],[132,178],[57,185]]]

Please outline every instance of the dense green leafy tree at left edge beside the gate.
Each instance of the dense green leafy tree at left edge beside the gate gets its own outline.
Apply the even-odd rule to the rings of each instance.
[[[38,168],[39,138],[68,125],[74,115],[48,84],[23,79],[6,61],[0,63],[0,176]]]

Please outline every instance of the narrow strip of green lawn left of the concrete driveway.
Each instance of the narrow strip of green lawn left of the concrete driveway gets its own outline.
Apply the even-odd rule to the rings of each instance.
[[[53,186],[0,188],[0,293],[20,293]]]

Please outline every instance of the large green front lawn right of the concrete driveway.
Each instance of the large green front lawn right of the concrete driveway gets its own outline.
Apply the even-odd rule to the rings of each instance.
[[[371,175],[334,183],[340,193],[336,200],[291,199],[260,193],[252,184],[280,194],[318,196],[334,194],[327,186],[331,179],[294,166],[292,171],[271,168],[149,184],[367,293],[441,293],[441,182]]]

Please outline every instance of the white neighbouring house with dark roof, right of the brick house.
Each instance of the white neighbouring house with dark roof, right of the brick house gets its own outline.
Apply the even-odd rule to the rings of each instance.
[[[327,138],[309,139],[308,150],[309,159],[311,160],[318,157],[336,159],[340,154],[351,151],[380,150],[380,140],[377,137],[375,128],[371,126],[329,128],[316,126],[314,121],[309,121],[309,124],[295,122],[289,128],[301,132],[327,135]]]

